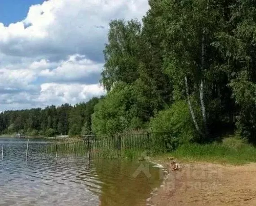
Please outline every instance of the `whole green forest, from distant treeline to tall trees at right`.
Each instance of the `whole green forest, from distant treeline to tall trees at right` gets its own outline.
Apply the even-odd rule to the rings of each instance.
[[[86,103],[5,111],[0,132],[168,132],[173,149],[227,130],[255,141],[256,2],[149,0],[141,20],[110,22],[100,83]]]

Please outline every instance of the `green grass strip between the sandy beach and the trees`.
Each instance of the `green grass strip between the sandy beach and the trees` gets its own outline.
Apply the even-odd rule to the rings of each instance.
[[[256,148],[239,137],[231,136],[224,138],[221,143],[181,145],[172,153],[157,155],[154,158],[167,160],[170,156],[180,162],[212,162],[242,165],[256,162]]]

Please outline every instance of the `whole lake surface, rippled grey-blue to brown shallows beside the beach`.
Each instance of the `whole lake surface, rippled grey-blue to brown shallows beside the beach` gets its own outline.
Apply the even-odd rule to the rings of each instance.
[[[26,140],[0,138],[1,206],[145,206],[162,181],[162,171],[153,165],[148,167],[150,177],[142,172],[135,177],[141,164],[147,168],[146,162],[88,161],[70,155],[56,163],[54,154],[38,152],[33,140],[29,144],[26,161]]]

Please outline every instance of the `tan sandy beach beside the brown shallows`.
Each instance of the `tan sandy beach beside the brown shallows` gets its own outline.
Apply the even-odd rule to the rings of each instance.
[[[151,206],[256,205],[256,163],[177,162],[181,171],[168,173],[148,201]]]

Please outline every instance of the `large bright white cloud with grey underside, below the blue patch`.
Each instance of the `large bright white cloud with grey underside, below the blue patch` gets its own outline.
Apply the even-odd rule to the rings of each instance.
[[[102,55],[111,19],[141,18],[147,9],[148,0],[45,1],[31,6],[22,22],[0,25],[0,50],[20,56],[24,50],[31,56],[81,52],[92,58]]]

